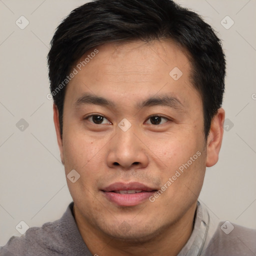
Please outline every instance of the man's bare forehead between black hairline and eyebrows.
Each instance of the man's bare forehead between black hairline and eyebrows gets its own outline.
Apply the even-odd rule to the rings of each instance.
[[[95,48],[97,54],[92,54]],[[77,74],[66,93],[73,100],[84,92],[124,101],[157,93],[172,93],[180,101],[183,97],[183,102],[186,93],[198,96],[191,83],[188,54],[171,40],[114,42],[95,48],[71,68]]]

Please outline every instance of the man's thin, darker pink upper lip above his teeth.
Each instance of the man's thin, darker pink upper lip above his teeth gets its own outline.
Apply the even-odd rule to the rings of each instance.
[[[109,191],[117,191],[117,190],[144,190],[144,191],[152,191],[156,190],[155,188],[149,187],[147,185],[144,185],[140,182],[129,182],[129,183],[122,183],[122,182],[115,182],[112,183],[103,189],[101,189],[105,192]]]

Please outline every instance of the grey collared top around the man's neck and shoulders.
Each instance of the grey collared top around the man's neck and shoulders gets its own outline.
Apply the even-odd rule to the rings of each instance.
[[[60,219],[30,227],[20,237],[12,236],[0,247],[0,256],[92,256],[76,226],[72,208],[73,202]],[[97,254],[104,255],[100,251]],[[193,231],[178,253],[183,255],[255,256],[256,230],[219,222],[198,201]]]

